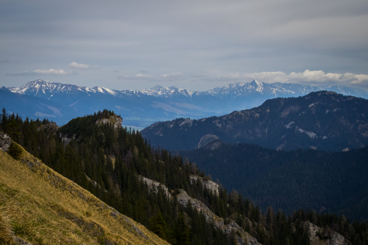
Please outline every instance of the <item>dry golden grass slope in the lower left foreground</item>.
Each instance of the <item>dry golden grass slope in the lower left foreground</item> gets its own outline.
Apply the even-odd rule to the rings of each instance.
[[[28,152],[0,151],[0,244],[168,244],[102,204]]]

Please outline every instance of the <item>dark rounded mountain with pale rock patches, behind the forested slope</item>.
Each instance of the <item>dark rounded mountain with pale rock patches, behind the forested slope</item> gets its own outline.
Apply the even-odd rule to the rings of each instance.
[[[367,113],[366,99],[321,91],[266,100],[253,109],[220,117],[156,122],[141,134],[152,145],[170,150],[192,150],[220,139],[277,150],[341,151],[368,145]]]

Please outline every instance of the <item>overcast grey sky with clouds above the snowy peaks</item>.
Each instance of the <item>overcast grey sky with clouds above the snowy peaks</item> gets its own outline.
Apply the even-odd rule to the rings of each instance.
[[[367,0],[0,0],[0,86],[368,91]]]

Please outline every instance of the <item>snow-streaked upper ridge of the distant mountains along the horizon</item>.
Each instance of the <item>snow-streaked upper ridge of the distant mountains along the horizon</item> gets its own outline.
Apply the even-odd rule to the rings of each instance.
[[[224,87],[216,87],[209,89],[208,91],[190,91],[186,88],[178,89],[175,86],[172,87],[161,87],[160,85],[155,85],[151,89],[138,89],[138,90],[114,90],[104,87],[82,87],[72,84],[61,84],[61,83],[51,83],[43,80],[36,80],[26,83],[20,88],[8,87],[11,92],[33,95],[38,97],[46,97],[48,95],[55,94],[68,94],[77,95],[78,93],[84,92],[89,93],[102,93],[109,94],[113,96],[121,96],[121,94],[130,95],[151,95],[155,97],[171,98],[173,96],[202,96],[202,95],[212,95],[218,98],[236,98],[247,96],[250,94],[258,93],[262,95],[274,95],[276,97],[283,97],[282,95],[295,95],[301,96],[309,94],[315,91],[334,91],[343,95],[351,95],[355,97],[368,98],[368,92],[360,88],[351,88],[346,86],[310,86],[301,84],[287,84],[287,83],[262,83],[257,80],[253,80],[251,83],[231,83],[225,85]],[[42,95],[43,94],[43,95]]]

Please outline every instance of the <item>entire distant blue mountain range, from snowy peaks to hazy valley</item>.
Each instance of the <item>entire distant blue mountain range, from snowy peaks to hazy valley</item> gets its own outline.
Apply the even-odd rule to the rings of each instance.
[[[156,121],[178,117],[220,116],[234,110],[259,106],[267,99],[297,97],[322,90],[368,98],[368,93],[358,88],[267,84],[256,80],[251,83],[228,84],[208,91],[190,91],[159,85],[136,91],[113,90],[36,80],[20,88],[1,87],[0,106],[6,107],[8,111],[17,111],[21,116],[48,117],[59,125],[74,117],[109,108],[121,114],[124,125],[134,125],[141,129]],[[8,93],[9,91],[13,94]]]

